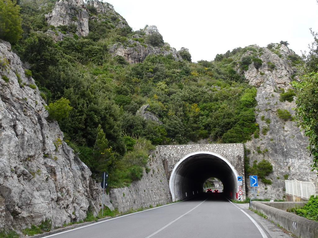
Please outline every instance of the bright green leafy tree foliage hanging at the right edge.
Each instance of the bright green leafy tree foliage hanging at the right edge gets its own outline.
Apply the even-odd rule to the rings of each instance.
[[[308,136],[307,147],[313,156],[311,167],[318,171],[318,73],[312,72],[301,77],[301,81],[293,81],[296,89],[296,121],[297,125]]]

